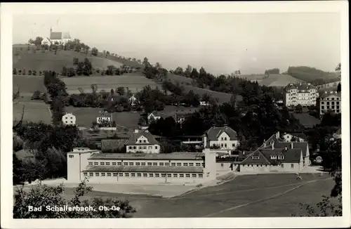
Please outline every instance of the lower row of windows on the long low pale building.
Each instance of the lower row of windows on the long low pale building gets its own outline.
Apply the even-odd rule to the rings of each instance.
[[[159,173],[103,173],[103,172],[89,172],[83,173],[84,176],[120,176],[120,177],[168,177],[168,178],[203,178],[203,174],[159,174]]]

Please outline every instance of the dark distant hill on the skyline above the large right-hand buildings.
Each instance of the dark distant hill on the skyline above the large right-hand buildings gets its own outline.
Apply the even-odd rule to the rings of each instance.
[[[331,80],[333,81],[333,79],[336,79],[336,81],[340,80],[340,73],[338,72],[324,72],[314,67],[307,66],[289,67],[286,73],[290,74],[296,79],[300,79],[310,83],[318,81],[319,79],[324,79],[328,82],[330,82]]]

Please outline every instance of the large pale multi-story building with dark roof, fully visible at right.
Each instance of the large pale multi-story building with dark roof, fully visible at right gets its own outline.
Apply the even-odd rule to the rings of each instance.
[[[318,92],[310,83],[288,84],[284,89],[284,105],[286,107],[316,105]]]

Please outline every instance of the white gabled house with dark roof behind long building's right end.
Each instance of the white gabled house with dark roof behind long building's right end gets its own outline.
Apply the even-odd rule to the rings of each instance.
[[[227,152],[231,154],[232,150],[237,149],[239,140],[237,132],[229,126],[223,127],[212,126],[202,135],[204,148],[211,148],[218,152]]]

